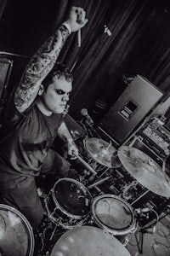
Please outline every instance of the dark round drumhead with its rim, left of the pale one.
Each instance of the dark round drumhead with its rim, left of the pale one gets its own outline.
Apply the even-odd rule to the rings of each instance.
[[[82,218],[90,212],[92,195],[77,180],[61,178],[54,184],[53,200],[62,212],[74,218]]]

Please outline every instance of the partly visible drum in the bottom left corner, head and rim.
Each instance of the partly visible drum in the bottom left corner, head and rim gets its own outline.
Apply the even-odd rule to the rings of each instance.
[[[14,207],[0,204],[0,256],[32,256],[34,236],[28,220]]]

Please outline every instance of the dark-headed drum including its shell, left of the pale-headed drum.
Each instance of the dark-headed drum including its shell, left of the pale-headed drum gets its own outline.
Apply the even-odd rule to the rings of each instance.
[[[82,183],[65,177],[54,184],[45,199],[45,206],[48,218],[70,230],[84,223],[90,212],[91,201],[92,195]]]

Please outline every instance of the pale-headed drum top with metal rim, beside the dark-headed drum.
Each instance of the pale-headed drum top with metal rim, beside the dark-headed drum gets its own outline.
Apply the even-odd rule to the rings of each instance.
[[[94,220],[113,235],[126,235],[134,228],[133,210],[116,195],[99,195],[92,203]]]

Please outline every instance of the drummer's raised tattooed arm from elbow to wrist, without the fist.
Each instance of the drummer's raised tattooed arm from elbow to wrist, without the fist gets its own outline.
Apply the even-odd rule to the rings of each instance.
[[[29,61],[14,95],[14,104],[20,113],[29,108],[35,100],[42,80],[54,67],[68,36],[67,28],[60,26]]]

